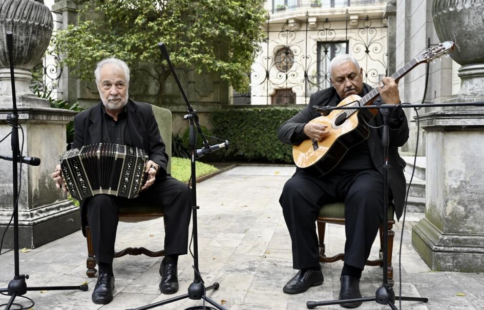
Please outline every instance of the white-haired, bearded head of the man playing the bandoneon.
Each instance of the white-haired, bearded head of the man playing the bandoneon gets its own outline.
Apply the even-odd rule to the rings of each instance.
[[[102,103],[110,110],[119,110],[128,102],[128,83],[124,71],[115,63],[102,66],[97,89]]]

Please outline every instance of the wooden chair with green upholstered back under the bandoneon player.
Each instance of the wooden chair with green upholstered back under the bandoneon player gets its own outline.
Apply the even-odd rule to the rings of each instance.
[[[172,113],[170,110],[161,108],[158,106],[153,106],[153,112],[155,114],[156,121],[158,122],[158,128],[160,129],[161,137],[166,146],[166,153],[169,156],[169,162],[167,165],[167,173],[171,172],[171,154],[172,154]],[[150,220],[158,217],[162,217],[163,212],[157,208],[153,210],[152,207],[146,205],[137,206],[123,206],[119,209],[119,220],[120,222],[136,223],[144,220]],[[97,270],[96,260],[94,258],[94,249],[91,240],[91,231],[89,229],[89,223],[86,225],[86,239],[88,243],[88,258],[86,260],[86,266],[88,270],[86,275],[90,278],[94,277]],[[114,257],[121,257],[124,255],[141,255],[144,254],[150,257],[160,257],[164,256],[164,250],[160,251],[150,251],[146,248],[126,248],[114,253]]]

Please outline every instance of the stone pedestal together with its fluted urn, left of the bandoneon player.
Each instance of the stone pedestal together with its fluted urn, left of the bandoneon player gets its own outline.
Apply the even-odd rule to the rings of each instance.
[[[21,174],[18,175],[20,248],[36,248],[80,228],[78,207],[66,200],[50,178],[58,164],[59,154],[66,151],[66,124],[75,112],[50,108],[48,99],[37,98],[29,89],[31,69],[44,57],[52,29],[52,13],[41,1],[0,3],[0,137],[6,137],[11,132],[7,117],[12,113],[15,96],[18,123],[23,128],[23,134],[19,130],[19,147],[22,151],[24,141],[23,156],[41,160],[38,167],[21,165]],[[7,31],[13,34],[15,94],[12,94],[5,44]],[[10,138],[0,144],[0,154],[12,154]],[[12,183],[12,162],[1,160],[0,234],[4,233],[13,212]],[[4,247],[7,248],[13,247],[12,225],[4,239]]]

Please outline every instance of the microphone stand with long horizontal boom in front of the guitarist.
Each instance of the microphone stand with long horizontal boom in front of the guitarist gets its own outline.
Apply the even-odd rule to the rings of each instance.
[[[387,109],[389,112],[391,109],[397,106],[410,108],[410,107],[436,107],[436,106],[484,106],[484,102],[457,102],[457,103],[426,103],[423,104],[381,104],[381,105],[363,105],[363,106],[313,106],[318,112],[326,114],[328,111],[332,110],[345,110],[345,109]],[[390,113],[388,113],[389,115]],[[326,114],[327,115],[327,114]],[[388,169],[391,167],[388,159],[388,147],[390,145],[389,136],[389,126],[388,126],[388,115],[382,113],[383,116],[383,134],[382,134],[382,146],[383,146],[383,220],[388,218]],[[388,283],[388,225],[383,225],[383,282],[376,290],[375,297],[361,297],[353,299],[338,299],[330,301],[307,301],[306,306],[309,309],[313,309],[317,306],[326,306],[333,304],[342,303],[353,303],[353,302],[367,302],[376,301],[379,304],[388,305],[393,310],[398,310],[395,306],[395,300],[406,300],[406,301],[420,301],[427,302],[428,298],[425,297],[406,297],[406,296],[395,296],[393,292],[392,285]]]

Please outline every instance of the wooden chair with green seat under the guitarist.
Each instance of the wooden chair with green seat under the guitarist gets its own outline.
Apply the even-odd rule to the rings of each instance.
[[[390,203],[388,206],[388,283],[393,286],[393,267],[392,267],[392,250],[393,250],[393,237],[395,232],[392,230],[395,220],[393,219],[394,206]],[[345,204],[334,203],[323,205],[320,208],[318,216],[318,236],[319,236],[319,261],[321,262],[334,262],[338,260],[345,260],[345,254],[339,253],[334,256],[326,256],[326,249],[324,245],[324,232],[326,223],[345,225]],[[380,258],[375,260],[367,260],[365,265],[367,266],[380,266],[383,267],[383,226],[380,225]]]

